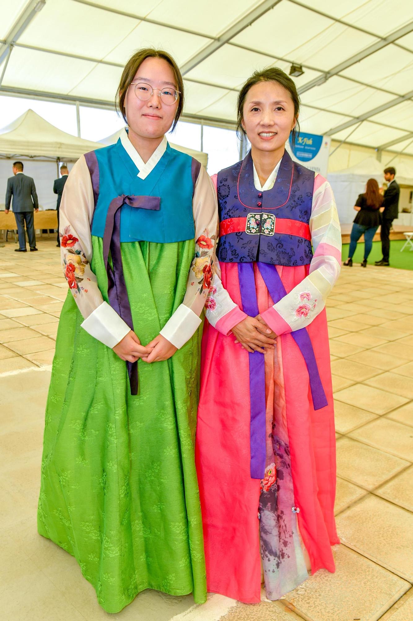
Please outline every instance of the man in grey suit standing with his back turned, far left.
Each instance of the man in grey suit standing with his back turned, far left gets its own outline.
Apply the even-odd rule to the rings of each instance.
[[[38,211],[37,193],[34,181],[23,174],[23,164],[15,161],[13,177],[7,179],[6,209],[9,213],[11,197],[13,197],[13,213],[16,218],[17,232],[19,233],[19,248],[15,252],[27,252],[24,222],[26,223],[27,237],[29,237],[30,251],[37,250],[34,230],[33,211]]]

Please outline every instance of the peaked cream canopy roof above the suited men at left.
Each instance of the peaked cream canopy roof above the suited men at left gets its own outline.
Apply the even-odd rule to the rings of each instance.
[[[0,155],[77,160],[101,146],[62,132],[30,109],[0,129]]]

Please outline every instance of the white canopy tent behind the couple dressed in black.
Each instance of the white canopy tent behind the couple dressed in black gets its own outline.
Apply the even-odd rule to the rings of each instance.
[[[341,224],[353,221],[353,206],[358,194],[365,192],[368,179],[376,179],[381,186],[385,167],[386,165],[375,157],[368,157],[355,166],[329,173],[328,180],[334,192]],[[413,166],[409,168],[408,165],[399,163],[395,168],[398,183],[413,186]]]

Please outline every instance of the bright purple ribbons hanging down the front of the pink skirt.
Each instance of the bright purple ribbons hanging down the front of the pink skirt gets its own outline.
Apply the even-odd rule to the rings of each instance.
[[[286,295],[285,287],[275,265],[257,263],[270,296],[276,304]],[[257,292],[255,289],[254,264],[238,263],[239,288],[241,291],[242,309],[247,315],[256,317],[259,314]],[[278,338],[283,338],[282,335]],[[311,397],[314,410],[327,406],[327,397],[322,388],[313,345],[305,328],[291,332],[298,348],[303,354],[308,370]],[[258,351],[249,353],[249,389],[251,395],[251,478],[262,479],[265,474],[265,366],[264,356]]]

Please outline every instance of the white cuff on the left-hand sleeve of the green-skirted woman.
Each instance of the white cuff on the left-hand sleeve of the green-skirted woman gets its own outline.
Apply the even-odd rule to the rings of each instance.
[[[81,326],[92,337],[110,348],[115,347],[130,332],[128,324],[107,302],[102,302]]]

